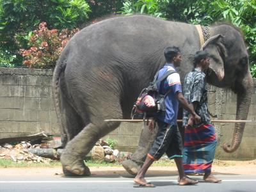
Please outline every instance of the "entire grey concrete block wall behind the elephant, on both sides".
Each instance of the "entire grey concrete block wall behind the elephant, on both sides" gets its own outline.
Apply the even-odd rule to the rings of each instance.
[[[52,102],[52,70],[0,68],[0,138],[26,136],[45,131],[58,135],[59,128]],[[256,79],[248,120],[256,120]],[[209,86],[209,110],[217,119],[236,118],[236,95]],[[117,141],[120,150],[133,152],[138,146],[142,124],[123,123],[105,138]],[[239,149],[224,153],[221,145],[232,141],[234,124],[215,124],[218,159],[256,159],[256,125],[246,124]]]

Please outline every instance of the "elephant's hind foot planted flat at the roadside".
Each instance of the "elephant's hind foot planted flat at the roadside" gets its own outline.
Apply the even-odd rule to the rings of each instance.
[[[70,160],[65,157],[65,154],[60,158],[63,173],[66,176],[89,176],[91,175],[90,169],[84,164],[83,160]]]

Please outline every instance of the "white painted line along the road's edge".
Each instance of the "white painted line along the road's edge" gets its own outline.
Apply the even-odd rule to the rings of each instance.
[[[177,182],[177,180],[148,180],[150,182]],[[256,179],[225,179],[222,182],[246,182]],[[134,182],[133,180],[0,180],[0,183],[88,183],[88,182]]]

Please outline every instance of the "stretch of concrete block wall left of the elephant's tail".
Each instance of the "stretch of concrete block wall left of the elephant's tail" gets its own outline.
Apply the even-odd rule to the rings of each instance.
[[[0,69],[0,138],[58,134],[51,78],[52,70]]]

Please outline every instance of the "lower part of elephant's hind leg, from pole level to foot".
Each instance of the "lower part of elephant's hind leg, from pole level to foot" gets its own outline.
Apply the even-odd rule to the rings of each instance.
[[[63,173],[67,176],[88,176],[89,168],[84,164],[84,157],[92,149],[95,141],[102,136],[113,131],[120,123],[102,122],[102,124],[88,124],[77,134],[67,146],[61,155],[61,164]]]

